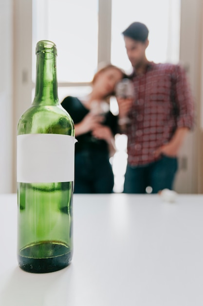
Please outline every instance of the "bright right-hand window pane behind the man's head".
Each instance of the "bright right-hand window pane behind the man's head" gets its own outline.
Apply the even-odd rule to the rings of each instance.
[[[180,42],[181,0],[112,0],[111,62],[127,72],[131,64],[121,34],[132,22],[143,22],[149,29],[146,55],[155,63],[177,63]]]

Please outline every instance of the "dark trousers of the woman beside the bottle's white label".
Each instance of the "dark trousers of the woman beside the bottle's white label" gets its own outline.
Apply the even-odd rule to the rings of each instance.
[[[114,178],[106,151],[86,150],[75,154],[76,194],[107,194],[113,189]]]

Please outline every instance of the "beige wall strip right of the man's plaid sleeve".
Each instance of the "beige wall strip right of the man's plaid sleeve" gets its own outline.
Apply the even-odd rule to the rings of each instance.
[[[203,162],[202,148],[200,148],[200,109],[203,104],[200,93],[203,71],[203,1],[181,1],[181,33],[180,33],[180,61],[188,69],[188,78],[195,100],[195,129],[190,132],[180,153],[180,171],[178,172],[175,189],[179,193],[201,192],[199,169]]]

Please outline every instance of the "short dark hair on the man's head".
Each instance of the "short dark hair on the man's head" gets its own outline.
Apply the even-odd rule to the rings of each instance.
[[[148,28],[144,23],[133,22],[122,32],[124,37],[129,37],[135,41],[145,42],[148,38]]]

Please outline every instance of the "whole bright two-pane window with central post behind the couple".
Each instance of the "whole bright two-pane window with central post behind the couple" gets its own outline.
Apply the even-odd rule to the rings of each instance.
[[[33,0],[33,82],[35,46],[39,40],[55,42],[58,50],[58,95],[84,96],[99,62],[131,71],[123,35],[130,23],[149,29],[147,58],[154,62],[179,61],[181,0]],[[111,106],[116,111],[115,99]],[[112,162],[114,192],[122,192],[127,164],[127,137],[116,135]]]

